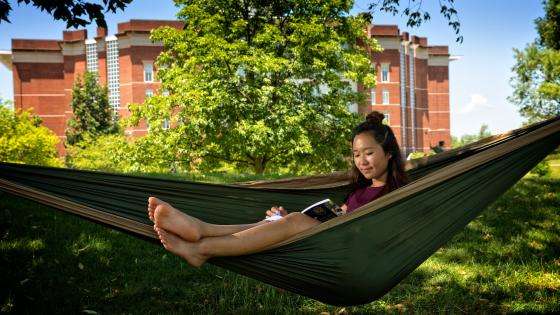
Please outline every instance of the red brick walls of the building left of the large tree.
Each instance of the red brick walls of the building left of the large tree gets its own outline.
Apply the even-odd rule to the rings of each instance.
[[[120,102],[118,114],[127,117],[129,103],[142,103],[146,90],[157,92],[159,82],[144,81],[144,64],[152,64],[162,50],[160,43],[150,41],[150,31],[160,26],[182,28],[178,21],[131,20],[118,25],[118,80]],[[99,83],[107,85],[107,31],[97,30],[93,39],[96,46]],[[14,78],[15,108],[33,108],[43,125],[61,139],[59,153],[63,154],[66,122],[72,116],[70,103],[72,87],[77,78],[88,69],[86,57],[87,31],[64,31],[62,40],[12,40],[12,72]],[[130,128],[127,133],[142,135],[146,126]]]

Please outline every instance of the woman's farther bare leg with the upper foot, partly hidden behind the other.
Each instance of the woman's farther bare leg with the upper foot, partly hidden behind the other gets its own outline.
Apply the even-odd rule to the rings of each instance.
[[[148,198],[148,217],[156,226],[189,242],[196,242],[201,237],[231,235],[264,223],[261,221],[238,225],[210,224],[191,217],[155,197]]]

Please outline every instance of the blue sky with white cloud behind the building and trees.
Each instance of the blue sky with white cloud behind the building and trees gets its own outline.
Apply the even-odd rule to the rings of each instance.
[[[374,1],[378,0],[356,1],[352,13],[367,11]],[[12,23],[0,22],[0,50],[10,50],[12,38],[62,38],[64,22],[32,6],[9,2]],[[534,21],[545,14],[541,0],[455,0],[463,43],[455,41],[457,35],[439,14],[439,1],[422,3],[432,18],[420,27],[407,27],[401,15],[379,12],[374,13],[374,24],[398,25],[401,32],[427,37],[429,45],[449,46],[450,54],[459,57],[449,65],[451,134],[478,134],[483,124],[493,134],[521,127],[524,119],[507,100],[512,94],[513,49],[522,50],[538,37]],[[124,12],[106,15],[108,33],[116,33],[117,24],[130,19],[173,20],[178,10],[171,0],[134,0]],[[86,29],[90,38],[95,36],[95,25]],[[13,100],[12,73],[2,65],[0,98]]]

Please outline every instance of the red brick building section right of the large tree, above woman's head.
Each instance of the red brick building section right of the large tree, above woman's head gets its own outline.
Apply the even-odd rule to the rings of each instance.
[[[449,148],[448,47],[428,46],[425,37],[409,38],[408,33],[401,34],[394,25],[371,26],[369,36],[378,41],[383,51],[372,58],[377,69],[374,93],[359,87],[368,94],[370,105],[360,107],[359,111],[377,110],[389,116],[389,124],[405,154],[428,152],[441,143]],[[388,70],[385,78],[384,67]]]

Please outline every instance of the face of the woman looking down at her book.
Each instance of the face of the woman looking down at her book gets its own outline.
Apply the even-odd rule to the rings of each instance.
[[[354,164],[365,178],[372,180],[372,186],[385,185],[391,154],[386,154],[371,134],[364,132],[354,137],[352,153]]]

